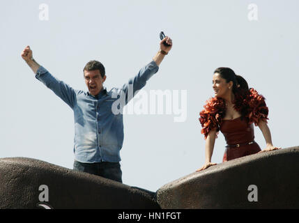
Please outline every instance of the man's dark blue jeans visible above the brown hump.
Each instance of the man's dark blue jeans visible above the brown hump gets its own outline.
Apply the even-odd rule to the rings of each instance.
[[[119,183],[123,183],[121,179],[121,164],[119,162],[93,162],[85,163],[75,160],[74,168],[75,171],[82,171],[89,174],[95,174],[102,176],[110,180],[116,180]]]

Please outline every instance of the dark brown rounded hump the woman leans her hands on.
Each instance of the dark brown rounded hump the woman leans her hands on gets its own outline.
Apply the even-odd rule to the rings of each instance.
[[[257,201],[248,199],[252,192],[257,192]],[[160,187],[157,201],[161,208],[299,208],[299,147],[194,172]]]

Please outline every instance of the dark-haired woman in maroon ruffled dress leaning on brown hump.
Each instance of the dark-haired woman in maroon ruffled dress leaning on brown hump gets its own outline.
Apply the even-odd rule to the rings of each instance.
[[[215,165],[211,158],[219,131],[227,141],[223,162],[261,152],[254,141],[254,125],[259,126],[266,140],[263,151],[279,149],[272,144],[267,125],[268,107],[262,95],[249,89],[245,79],[231,68],[217,68],[212,83],[215,97],[206,101],[199,118],[206,139],[206,161],[197,171]]]

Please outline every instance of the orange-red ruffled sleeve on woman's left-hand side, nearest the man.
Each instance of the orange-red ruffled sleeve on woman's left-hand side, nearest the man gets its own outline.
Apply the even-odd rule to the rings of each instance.
[[[225,114],[225,102],[221,98],[210,98],[204,105],[199,115],[199,122],[201,123],[202,129],[201,134],[204,134],[204,139],[208,137],[208,133],[211,130],[219,132],[220,122]],[[217,137],[217,136],[216,136]]]

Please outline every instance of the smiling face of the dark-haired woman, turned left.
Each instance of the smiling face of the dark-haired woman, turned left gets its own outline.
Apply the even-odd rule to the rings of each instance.
[[[219,73],[215,72],[213,75],[213,90],[215,97],[224,98],[231,94],[232,82],[227,83],[227,80],[222,78]]]

